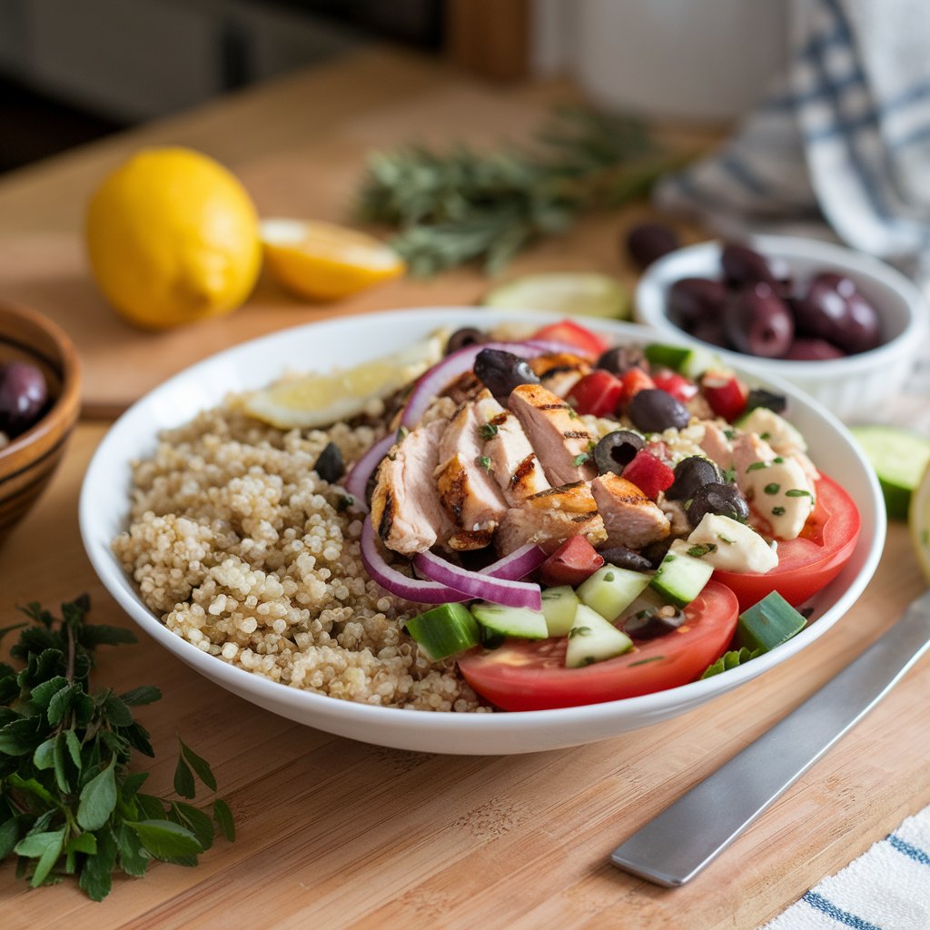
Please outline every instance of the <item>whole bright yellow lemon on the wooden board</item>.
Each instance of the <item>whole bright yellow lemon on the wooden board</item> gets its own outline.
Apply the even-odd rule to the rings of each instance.
[[[116,168],[91,197],[86,242],[104,296],[149,329],[235,310],[261,265],[246,189],[191,149],[142,150]]]

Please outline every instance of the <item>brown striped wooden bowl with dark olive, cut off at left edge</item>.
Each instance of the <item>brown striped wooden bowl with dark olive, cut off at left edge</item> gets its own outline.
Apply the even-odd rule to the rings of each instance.
[[[0,305],[0,540],[46,487],[79,411],[71,339],[39,313]]]

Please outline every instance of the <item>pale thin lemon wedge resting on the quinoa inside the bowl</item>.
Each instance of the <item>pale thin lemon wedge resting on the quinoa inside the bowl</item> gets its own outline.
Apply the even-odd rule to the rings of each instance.
[[[282,430],[313,429],[365,412],[374,400],[389,397],[419,378],[443,356],[447,333],[352,368],[328,374],[300,375],[249,392],[233,405]]]

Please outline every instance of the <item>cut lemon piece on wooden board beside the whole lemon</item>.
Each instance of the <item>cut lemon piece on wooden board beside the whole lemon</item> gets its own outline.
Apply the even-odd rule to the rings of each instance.
[[[299,297],[338,300],[405,272],[405,263],[374,236],[335,223],[263,219],[265,264]]]

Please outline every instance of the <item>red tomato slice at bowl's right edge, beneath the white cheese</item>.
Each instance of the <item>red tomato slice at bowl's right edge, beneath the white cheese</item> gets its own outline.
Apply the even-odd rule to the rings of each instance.
[[[716,571],[737,595],[745,610],[777,591],[792,606],[804,604],[843,570],[856,549],[861,520],[853,498],[832,478],[820,475],[814,487],[817,504],[796,539],[778,543],[778,565],[764,575],[758,572]]]

